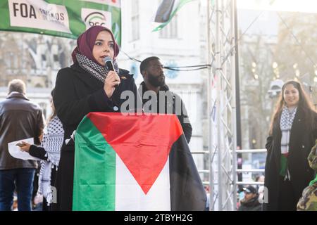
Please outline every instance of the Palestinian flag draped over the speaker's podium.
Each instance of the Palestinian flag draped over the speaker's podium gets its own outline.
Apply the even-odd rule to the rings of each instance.
[[[75,134],[73,210],[204,210],[175,115],[89,113]]]

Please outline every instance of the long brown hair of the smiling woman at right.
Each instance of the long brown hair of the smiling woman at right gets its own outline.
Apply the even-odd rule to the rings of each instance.
[[[275,108],[275,112],[273,113],[272,121],[271,121],[271,126],[270,126],[270,131],[269,134],[272,135],[273,133],[273,124],[276,120],[278,120],[278,116],[280,113],[282,113],[282,109],[285,106],[285,99],[284,99],[284,91],[285,87],[288,84],[292,84],[295,89],[299,92],[299,103],[297,105],[297,108],[300,108],[304,112],[304,118],[306,121],[306,126],[313,128],[315,126],[315,113],[316,111],[313,109],[313,104],[309,100],[309,97],[307,96],[306,92],[303,89],[302,84],[299,82],[291,79],[287,81],[283,86],[282,86],[282,91],[280,93],[280,98],[278,99],[278,103]]]

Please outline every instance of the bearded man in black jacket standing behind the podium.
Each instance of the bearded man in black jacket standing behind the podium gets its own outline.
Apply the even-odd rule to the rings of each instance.
[[[185,104],[177,94],[165,84],[163,65],[156,56],[146,58],[139,66],[144,82],[139,86],[143,109],[146,113],[175,114],[180,120],[187,142],[192,137],[192,125],[189,122]]]

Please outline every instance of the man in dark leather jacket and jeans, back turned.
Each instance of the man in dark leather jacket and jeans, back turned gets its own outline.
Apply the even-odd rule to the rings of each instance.
[[[44,127],[42,110],[25,96],[25,84],[13,79],[8,96],[0,102],[0,211],[11,210],[13,191],[18,192],[18,210],[31,210],[33,179],[37,162],[18,160],[8,153],[8,143],[39,136]]]

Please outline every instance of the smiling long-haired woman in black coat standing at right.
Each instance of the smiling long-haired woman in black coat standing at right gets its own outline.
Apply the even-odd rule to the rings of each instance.
[[[290,80],[282,86],[266,142],[264,210],[296,210],[302,191],[313,179],[307,157],[317,139],[317,113],[302,84]]]

